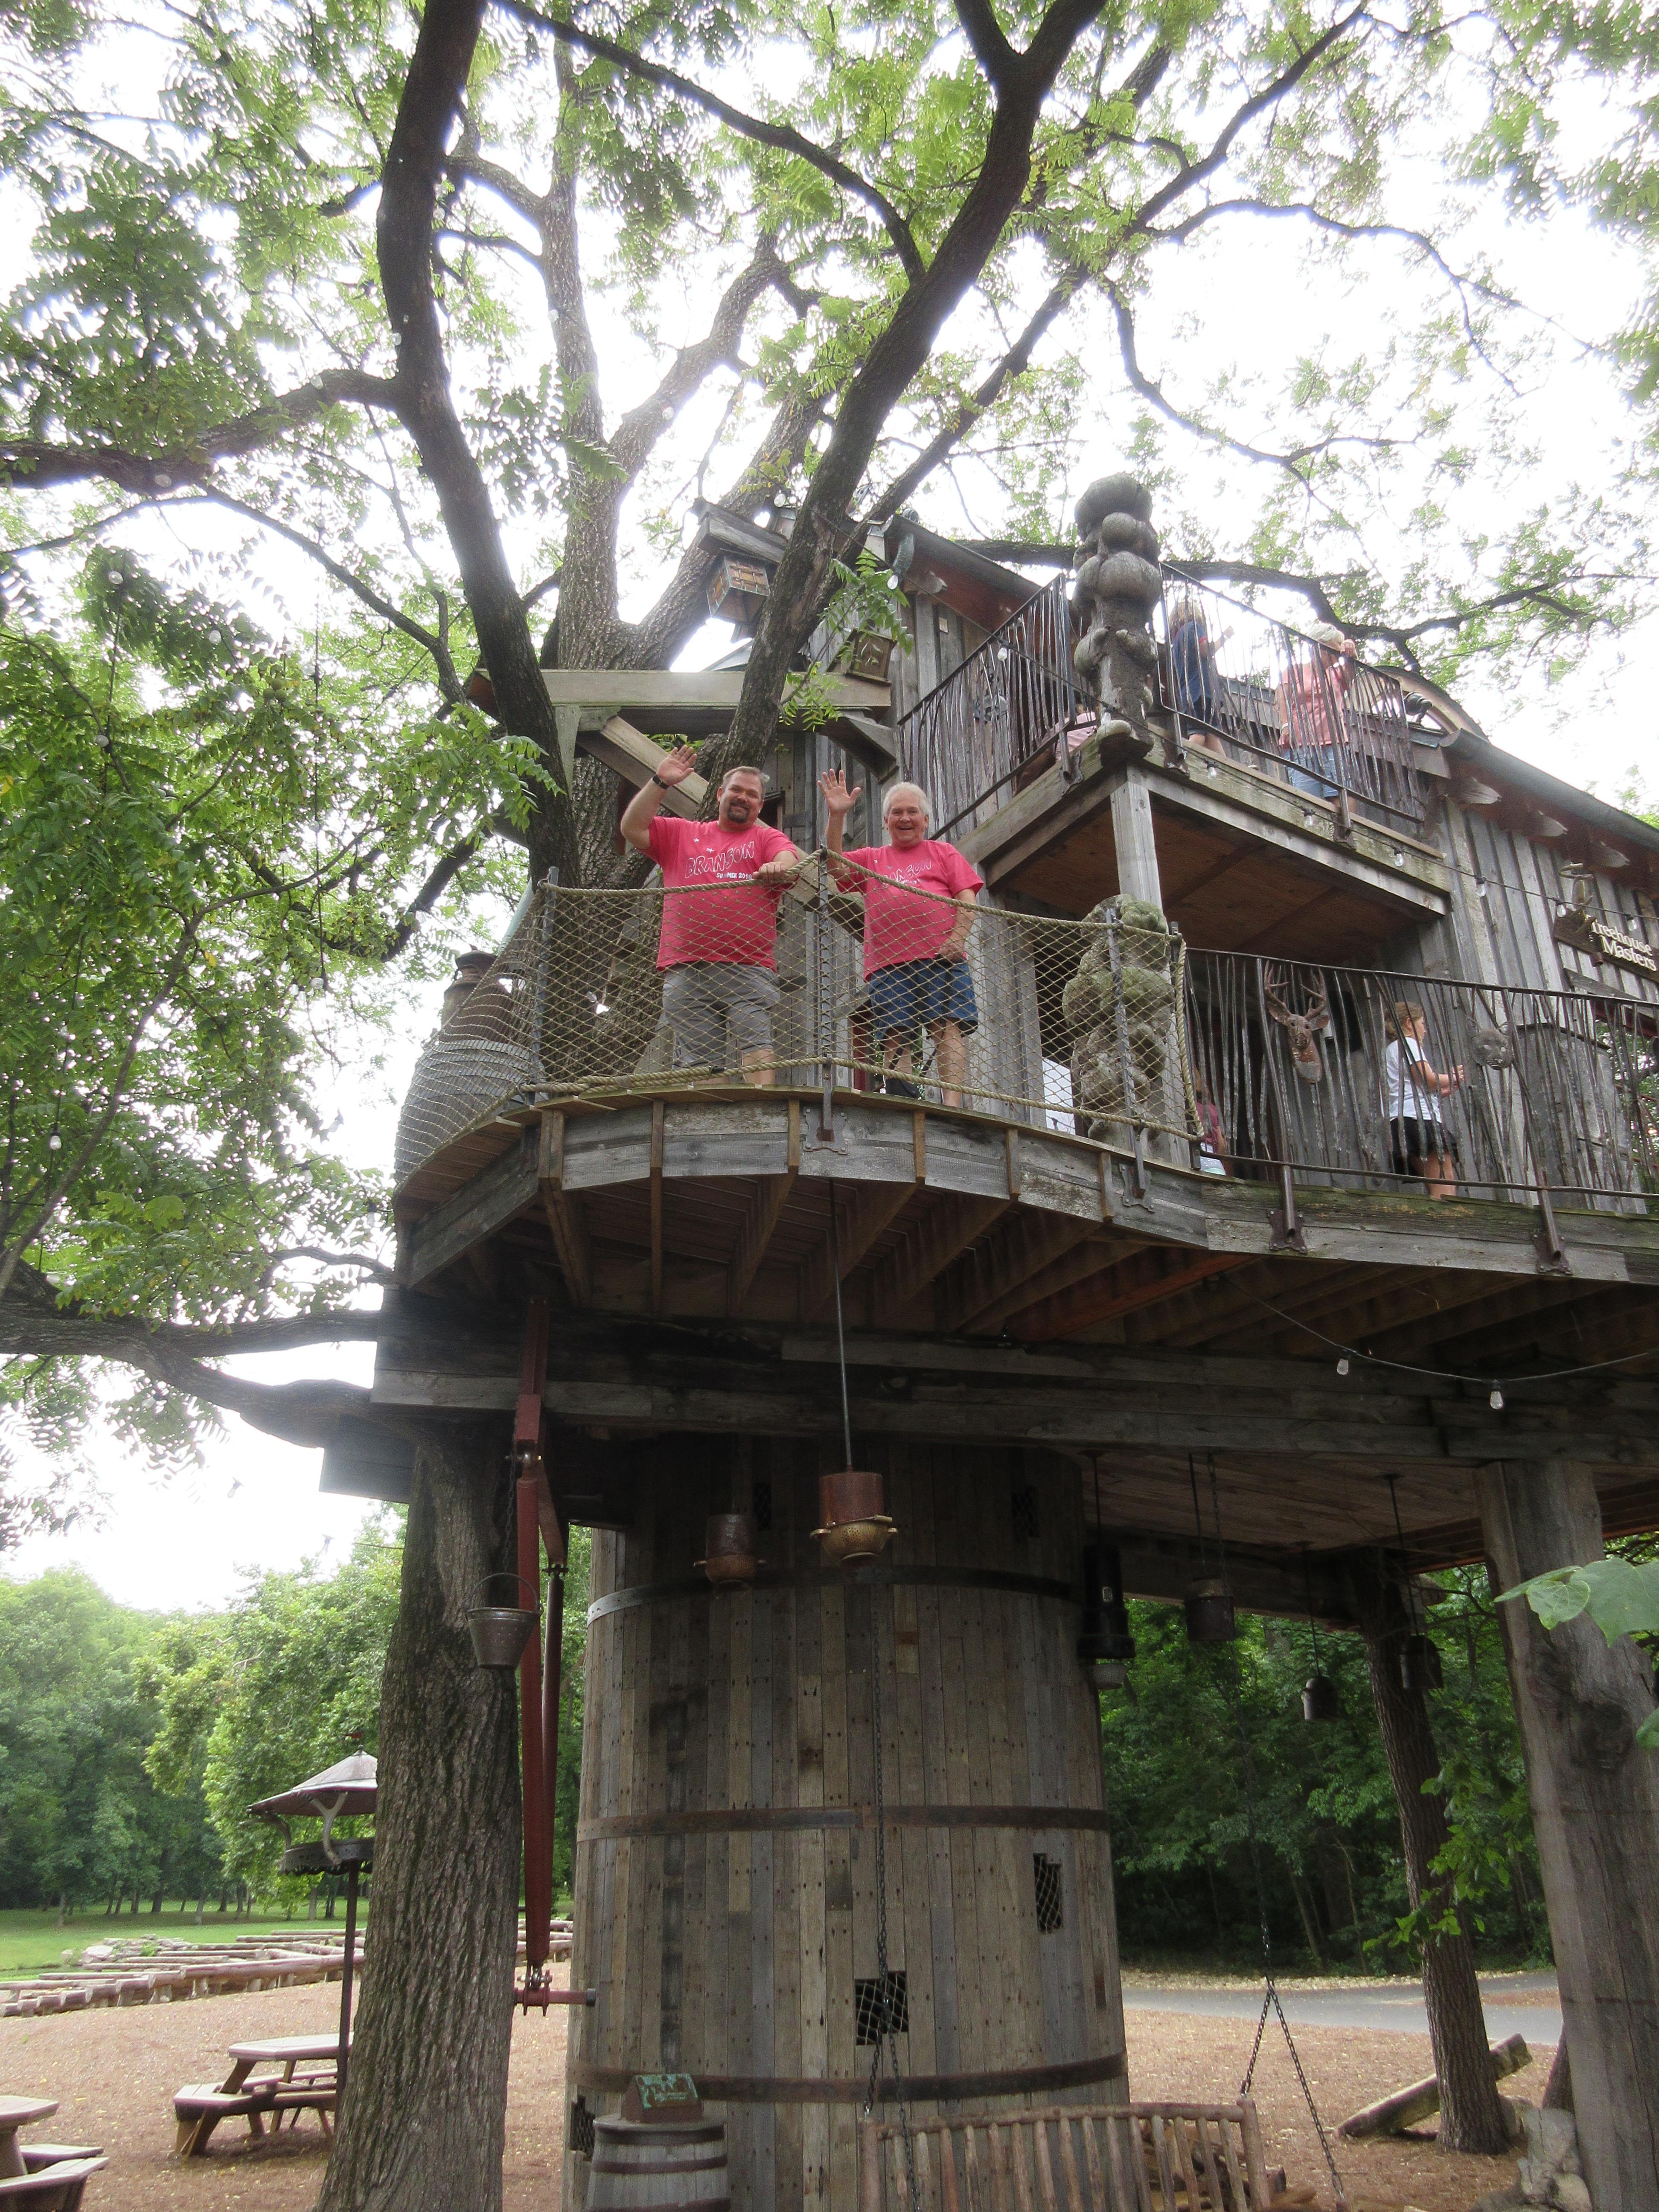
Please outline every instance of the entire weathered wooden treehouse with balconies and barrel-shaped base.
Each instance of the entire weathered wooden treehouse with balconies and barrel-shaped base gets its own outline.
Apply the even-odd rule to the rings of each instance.
[[[783,529],[701,518],[739,624]],[[745,2212],[854,2201],[883,2039],[918,2112],[1128,2095],[1121,1593],[1214,1597],[1223,1562],[1228,1601],[1398,1670],[1420,1571],[1659,1524],[1659,832],[1164,564],[1126,478],[1055,584],[911,522],[880,553],[911,650],[818,641],[830,719],[763,763],[807,858],[703,947],[770,978],[759,1062],[664,1002],[728,889],[544,883],[398,1141],[376,1405],[518,1407],[549,1544],[602,1531],[571,2205],[641,2070],[723,2115]],[[637,787],[741,657],[549,690]],[[971,995],[902,1062],[867,872],[821,852],[841,759],[852,847],[914,781],[982,878]],[[854,1571],[818,1517],[849,1460],[896,1524]],[[407,1451],[347,1425],[323,1480],[403,1495]],[[1652,1920],[1528,1666],[1517,1628],[1586,2172],[1635,2208]]]

